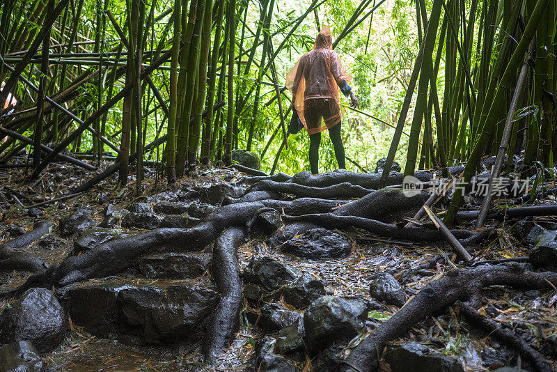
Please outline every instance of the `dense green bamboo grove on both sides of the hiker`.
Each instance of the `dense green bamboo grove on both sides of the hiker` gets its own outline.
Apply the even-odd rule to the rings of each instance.
[[[76,153],[90,133],[93,161],[114,162],[91,182],[118,172],[119,184],[125,185],[135,169],[140,194],[143,162],[153,156],[174,183],[200,164],[230,164],[233,149],[253,150],[259,133],[268,131],[260,155],[274,157],[274,172],[288,148],[285,123],[292,110],[278,56],[300,52],[292,40],[299,38],[301,24],[312,19],[320,29],[329,1],[306,1],[288,22],[277,23],[275,0],[253,2],[256,22],[249,22],[249,0],[5,0],[0,81],[6,85],[0,102],[8,92],[19,99],[15,111],[8,108],[0,116],[0,135],[7,136],[0,162],[30,146],[37,178],[68,146]],[[334,47],[350,33],[368,33],[367,52],[373,14],[385,1],[356,3],[337,25]],[[461,182],[468,183],[480,159],[500,149],[507,169],[515,154],[524,156],[529,169],[540,164],[552,169],[555,1],[407,3],[416,10],[412,22],[419,48],[403,84],[384,181],[403,145],[407,175],[466,162]],[[93,19],[84,20],[86,10]],[[109,120],[120,104],[119,120]],[[269,105],[278,111],[274,127],[259,120]],[[147,141],[150,118],[155,118],[153,141]],[[269,153],[271,144],[276,153]],[[457,192],[446,222],[460,203],[462,192]]]

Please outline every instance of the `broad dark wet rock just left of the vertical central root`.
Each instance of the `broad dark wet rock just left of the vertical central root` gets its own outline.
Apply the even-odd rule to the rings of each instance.
[[[198,286],[131,288],[118,293],[123,328],[146,343],[179,341],[210,316],[219,299],[214,290]]]

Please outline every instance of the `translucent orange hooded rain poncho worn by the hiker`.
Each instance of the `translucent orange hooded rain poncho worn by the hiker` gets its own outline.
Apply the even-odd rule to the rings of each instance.
[[[342,118],[338,86],[348,82],[350,75],[347,75],[332,44],[331,29],[324,26],[315,38],[313,50],[301,56],[286,77],[285,86],[292,92],[292,102],[308,134],[334,127]],[[323,105],[329,106],[329,115],[324,115],[323,120],[308,123],[304,110]]]

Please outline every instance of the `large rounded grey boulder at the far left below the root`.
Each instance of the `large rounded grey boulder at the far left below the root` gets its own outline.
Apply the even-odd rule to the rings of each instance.
[[[61,343],[65,323],[64,309],[50,290],[29,289],[10,309],[0,342],[31,341],[40,352],[49,352]]]

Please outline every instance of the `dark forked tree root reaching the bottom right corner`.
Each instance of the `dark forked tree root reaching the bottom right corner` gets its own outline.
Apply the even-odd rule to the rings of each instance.
[[[355,369],[367,372],[377,370],[378,356],[382,354],[386,343],[398,339],[419,321],[439,313],[457,301],[463,302],[464,313],[469,315],[471,320],[484,325],[490,331],[494,330],[496,323],[478,318],[476,308],[480,304],[480,290],[496,285],[522,289],[550,288],[551,285],[557,285],[557,273],[527,271],[518,263],[451,270],[446,277],[427,284],[405,307],[361,341],[347,357],[345,372]],[[509,337],[509,332],[501,328],[499,330],[500,332],[495,332],[494,335],[501,336],[501,341],[518,348],[524,357],[538,366],[539,371],[551,371],[538,352],[533,352],[535,350],[516,336]],[[356,368],[350,367],[351,365]]]

